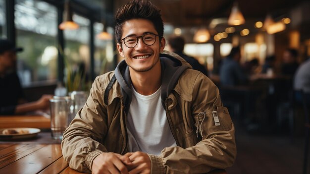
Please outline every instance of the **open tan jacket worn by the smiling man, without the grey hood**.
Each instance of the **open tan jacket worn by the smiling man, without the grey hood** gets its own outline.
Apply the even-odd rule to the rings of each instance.
[[[169,55],[177,60],[173,61],[186,64],[175,54],[161,56],[173,59]],[[162,66],[176,67],[175,64],[169,67],[169,61],[161,59]],[[118,76],[126,73],[126,70],[116,71]],[[99,154],[127,152],[128,89],[121,86],[124,82],[119,83],[120,77],[108,93],[107,105],[103,101],[113,74],[114,71],[96,78],[85,106],[64,132],[62,154],[72,169],[91,172],[92,162]],[[159,156],[149,154],[152,173],[201,174],[232,166],[236,157],[235,129],[227,109],[222,106],[217,87],[207,76],[190,68],[179,73],[174,84],[171,81],[162,80],[162,86],[168,83],[167,89],[169,86],[171,89],[168,93],[163,91],[161,97],[166,93],[162,103],[177,146],[163,149]]]

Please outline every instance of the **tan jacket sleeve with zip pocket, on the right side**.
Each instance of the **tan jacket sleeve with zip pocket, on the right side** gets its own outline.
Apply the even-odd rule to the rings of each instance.
[[[196,121],[192,126],[202,140],[192,147],[168,147],[159,156],[150,155],[152,173],[202,174],[233,165],[235,129],[227,108],[222,106],[217,87],[200,73],[192,94],[191,115]]]

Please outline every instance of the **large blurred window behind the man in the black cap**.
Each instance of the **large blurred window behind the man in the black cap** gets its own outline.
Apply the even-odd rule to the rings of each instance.
[[[22,86],[57,78],[57,10],[41,0],[16,0],[17,72]]]

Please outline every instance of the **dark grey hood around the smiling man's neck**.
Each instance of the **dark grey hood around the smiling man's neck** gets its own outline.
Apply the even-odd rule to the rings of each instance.
[[[175,87],[180,75],[187,69],[192,68],[192,66],[187,63],[183,58],[177,54],[163,51],[160,55],[161,64],[161,103],[165,108],[165,100],[170,94],[170,92]],[[117,82],[121,86],[121,92],[123,96],[123,102],[125,106],[129,106],[132,100],[132,90],[131,90],[131,79],[129,73],[129,66],[126,64],[125,60],[118,63],[115,69],[115,77]],[[129,107],[126,107],[126,113]]]

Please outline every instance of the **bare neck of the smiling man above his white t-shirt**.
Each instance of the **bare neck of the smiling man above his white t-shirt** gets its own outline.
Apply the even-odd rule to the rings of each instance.
[[[130,69],[130,78],[133,87],[141,95],[151,95],[161,86],[160,61],[149,71],[136,72]]]

